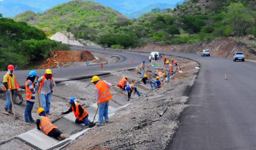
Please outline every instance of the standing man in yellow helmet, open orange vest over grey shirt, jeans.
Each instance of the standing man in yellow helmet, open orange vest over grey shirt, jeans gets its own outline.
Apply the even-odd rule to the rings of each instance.
[[[41,93],[41,104],[47,115],[50,113],[51,96],[54,91],[56,84],[52,78],[52,71],[50,69],[45,70],[44,76],[38,79],[40,84],[39,91]]]

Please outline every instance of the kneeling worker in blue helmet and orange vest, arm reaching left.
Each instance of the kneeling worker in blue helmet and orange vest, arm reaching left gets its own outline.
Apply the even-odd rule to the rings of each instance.
[[[76,120],[75,120],[76,124],[84,124],[85,126],[87,126],[90,123],[90,121],[88,120],[89,115],[87,111],[84,109],[84,107],[78,102],[76,102],[75,100],[76,98],[74,97],[70,98],[70,101],[69,101],[69,103],[71,104],[70,109],[64,113],[61,112],[61,114],[62,115],[68,114],[73,111],[73,113],[76,116]]]

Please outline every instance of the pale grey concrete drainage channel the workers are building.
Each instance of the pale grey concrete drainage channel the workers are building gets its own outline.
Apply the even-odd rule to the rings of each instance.
[[[112,76],[112,75],[106,75],[106,76]],[[113,85],[113,88],[118,88],[115,85]],[[141,95],[147,94],[152,90],[150,85],[145,85],[145,84],[139,84],[137,85],[137,88],[139,89]],[[119,95],[114,94],[113,99],[111,100],[112,102],[110,103],[109,106],[109,117],[111,118],[112,115],[114,115],[116,112],[125,109],[131,101],[137,100],[140,97],[138,95],[133,95],[131,96],[131,101],[126,100],[126,96],[128,95],[127,91],[121,92]],[[97,104],[92,104],[92,105],[84,105],[84,108],[87,110],[89,113],[89,119],[92,121],[93,117],[96,113],[97,109]],[[98,121],[98,114],[96,115],[95,121]],[[2,144],[8,144],[8,142],[12,142],[12,140],[20,140],[31,147],[37,149],[37,150],[60,150],[67,146],[71,141],[75,140],[79,136],[83,135],[86,133],[90,128],[87,128],[84,125],[76,124],[74,123],[75,121],[75,115],[73,113],[64,115],[60,118],[55,119],[53,124],[55,124],[59,130],[61,130],[63,133],[67,133],[70,135],[70,138],[64,139],[62,141],[58,141],[55,138],[49,137],[45,135],[42,131],[33,129],[29,130],[26,133],[20,134],[18,136],[6,139],[5,141],[1,141],[0,145]],[[22,147],[20,147],[22,148]]]

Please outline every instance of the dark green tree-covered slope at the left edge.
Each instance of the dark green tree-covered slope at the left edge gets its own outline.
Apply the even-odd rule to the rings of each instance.
[[[57,43],[49,40],[45,33],[25,22],[15,22],[0,14],[0,70],[9,64],[21,69],[51,55]]]

